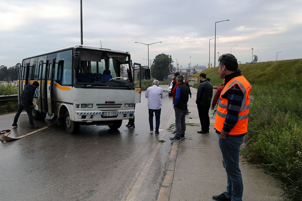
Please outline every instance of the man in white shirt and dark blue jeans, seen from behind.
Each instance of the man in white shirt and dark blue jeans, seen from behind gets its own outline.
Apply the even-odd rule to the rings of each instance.
[[[155,134],[159,134],[160,111],[162,110],[163,91],[158,80],[153,80],[152,86],[148,87],[145,97],[148,99],[150,131],[153,131],[153,113],[155,113]]]

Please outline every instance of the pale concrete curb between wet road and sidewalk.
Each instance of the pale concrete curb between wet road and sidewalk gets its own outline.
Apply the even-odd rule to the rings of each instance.
[[[177,159],[177,153],[179,148],[179,141],[174,141],[171,149],[171,153],[168,159],[167,171],[160,187],[157,201],[169,201],[171,187],[173,183],[175,164]]]

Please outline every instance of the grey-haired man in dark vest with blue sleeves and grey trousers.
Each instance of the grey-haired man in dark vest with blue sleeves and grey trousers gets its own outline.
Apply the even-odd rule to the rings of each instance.
[[[176,88],[175,100],[173,108],[175,110],[176,134],[171,141],[181,141],[185,139],[186,131],[186,113],[188,111],[189,88],[184,84],[184,77],[178,75],[176,77],[178,87]]]

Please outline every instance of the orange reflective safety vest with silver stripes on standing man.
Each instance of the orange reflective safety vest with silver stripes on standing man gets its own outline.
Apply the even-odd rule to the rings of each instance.
[[[219,103],[217,107],[216,119],[214,124],[215,129],[218,130],[219,132],[221,132],[223,129],[223,124],[226,118],[227,104],[228,104],[228,100],[223,98],[222,95],[226,93],[226,91],[229,90],[235,84],[237,84],[241,89],[241,91],[243,92],[243,101],[239,109],[238,122],[230,130],[229,132],[230,135],[240,135],[247,132],[247,122],[249,117],[249,98],[250,98],[250,90],[252,89],[251,84],[242,75],[238,77],[234,77],[228,83],[226,83],[219,97]]]

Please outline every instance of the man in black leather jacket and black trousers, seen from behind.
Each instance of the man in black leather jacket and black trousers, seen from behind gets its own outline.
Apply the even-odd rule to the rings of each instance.
[[[206,80],[207,76],[204,73],[199,75],[201,83],[198,86],[196,104],[198,109],[201,131],[197,133],[208,133],[210,130],[209,110],[213,96],[213,85]]]

